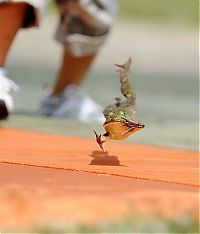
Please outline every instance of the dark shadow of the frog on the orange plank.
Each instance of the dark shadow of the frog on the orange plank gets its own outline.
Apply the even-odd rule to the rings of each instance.
[[[89,156],[93,158],[89,165],[123,166],[117,156],[109,155],[107,151],[94,150]]]

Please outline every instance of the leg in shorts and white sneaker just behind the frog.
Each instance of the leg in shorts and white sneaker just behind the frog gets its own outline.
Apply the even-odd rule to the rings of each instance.
[[[101,5],[94,0],[89,1],[90,4],[68,0],[56,2],[60,22],[55,38],[64,47],[64,52],[55,84],[52,90],[46,89],[40,113],[87,122],[102,121],[101,107],[78,86],[108,36],[115,14],[111,9],[113,4]]]

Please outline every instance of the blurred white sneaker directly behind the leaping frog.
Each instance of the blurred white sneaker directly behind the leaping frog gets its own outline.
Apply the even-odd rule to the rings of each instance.
[[[104,121],[101,107],[75,85],[68,86],[57,96],[50,96],[48,92],[42,100],[40,114],[82,122]]]

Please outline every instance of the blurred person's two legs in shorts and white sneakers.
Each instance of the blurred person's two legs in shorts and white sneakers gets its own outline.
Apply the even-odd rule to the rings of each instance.
[[[63,45],[63,58],[52,89],[47,90],[40,114],[80,121],[103,119],[100,106],[81,92],[83,82],[99,47],[104,44],[116,14],[115,0],[55,0],[59,24],[55,38]],[[0,119],[13,110],[10,91],[18,86],[7,77],[9,49],[21,28],[39,26],[45,0],[0,0]],[[6,24],[5,24],[6,22]]]

